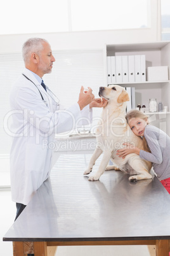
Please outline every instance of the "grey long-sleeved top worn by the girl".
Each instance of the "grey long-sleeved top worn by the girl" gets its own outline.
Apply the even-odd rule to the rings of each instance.
[[[170,178],[170,138],[153,125],[147,125],[144,132],[151,153],[140,150],[142,159],[152,162],[159,180]]]

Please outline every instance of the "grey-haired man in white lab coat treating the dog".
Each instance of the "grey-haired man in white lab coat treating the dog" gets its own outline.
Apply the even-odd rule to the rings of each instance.
[[[44,146],[44,140],[49,145],[55,133],[74,129],[77,120],[90,118],[91,108],[107,104],[107,101],[95,99],[91,88],[84,92],[81,87],[77,103],[64,110],[42,81],[44,74],[51,73],[55,62],[48,41],[30,38],[24,43],[22,54],[25,70],[10,95],[13,118],[11,196],[16,202],[16,218],[49,176],[52,149]]]

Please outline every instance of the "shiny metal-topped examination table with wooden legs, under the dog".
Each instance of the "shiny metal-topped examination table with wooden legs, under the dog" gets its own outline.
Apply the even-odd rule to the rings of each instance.
[[[55,255],[53,246],[65,245],[155,245],[157,256],[168,256],[170,195],[160,181],[131,183],[121,171],[88,181],[83,171],[91,155],[85,157],[60,156],[4,235],[13,255]]]

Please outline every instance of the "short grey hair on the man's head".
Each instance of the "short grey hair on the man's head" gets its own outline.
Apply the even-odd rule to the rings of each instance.
[[[43,43],[48,43],[46,39],[42,38],[29,38],[22,47],[22,57],[25,63],[28,63],[30,60],[31,54],[39,53],[43,48]]]

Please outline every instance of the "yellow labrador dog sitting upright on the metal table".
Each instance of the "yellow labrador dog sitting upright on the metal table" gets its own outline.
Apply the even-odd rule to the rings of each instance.
[[[121,170],[131,174],[130,181],[152,178],[149,173],[152,168],[151,162],[141,159],[135,153],[126,155],[124,159],[116,155],[117,150],[124,146],[123,143],[131,143],[132,146],[143,149],[142,139],[131,131],[126,122],[125,111],[126,101],[129,101],[128,93],[119,85],[109,85],[100,87],[99,96],[107,99],[108,104],[101,113],[101,120],[96,129],[96,149],[84,175],[91,173],[96,159],[103,153],[98,171],[89,177],[89,181],[99,180],[105,169]],[[114,166],[107,166],[109,160],[112,160]]]

